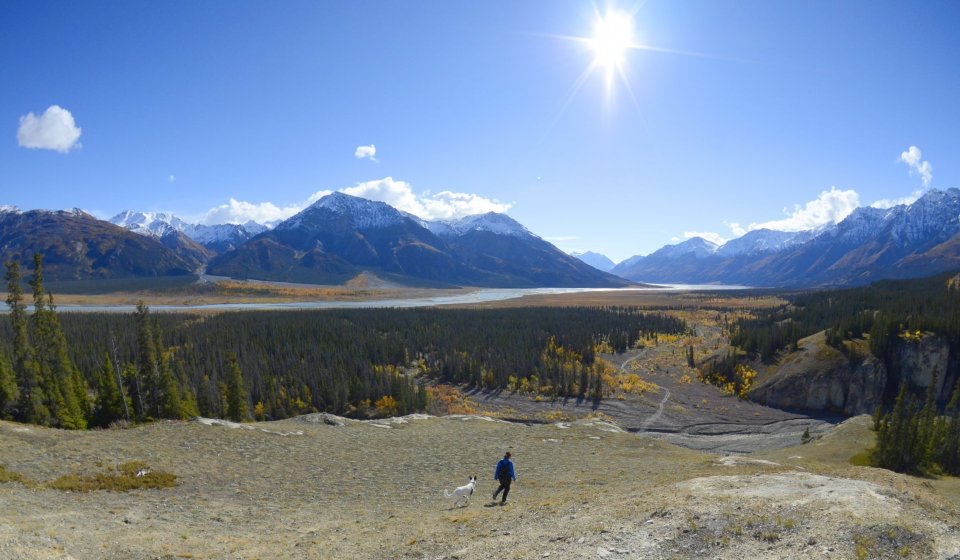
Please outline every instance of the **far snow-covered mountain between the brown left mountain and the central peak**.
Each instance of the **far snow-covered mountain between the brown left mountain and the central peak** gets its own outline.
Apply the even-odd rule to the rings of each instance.
[[[268,228],[254,221],[244,224],[191,224],[173,214],[164,212],[136,212],[124,210],[110,218],[110,222],[151,237],[163,237],[178,231],[199,243],[213,254],[225,253],[244,244],[248,239]],[[212,256],[212,255],[211,255]]]

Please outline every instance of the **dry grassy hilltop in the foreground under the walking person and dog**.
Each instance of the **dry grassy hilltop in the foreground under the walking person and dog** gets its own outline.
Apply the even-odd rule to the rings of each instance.
[[[331,423],[326,423],[331,422]],[[0,558],[956,558],[960,488],[849,464],[866,417],[716,455],[597,420],[477,416],[65,432],[0,422]],[[509,503],[493,466],[516,459]],[[172,488],[44,481],[128,461]],[[443,489],[480,477],[468,506]]]

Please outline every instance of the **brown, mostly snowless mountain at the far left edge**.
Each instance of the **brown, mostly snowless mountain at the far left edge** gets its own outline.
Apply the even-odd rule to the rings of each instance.
[[[173,241],[173,240],[171,240]],[[0,210],[0,260],[32,268],[41,253],[49,280],[190,274],[195,264],[160,240],[137,235],[81,210]]]

